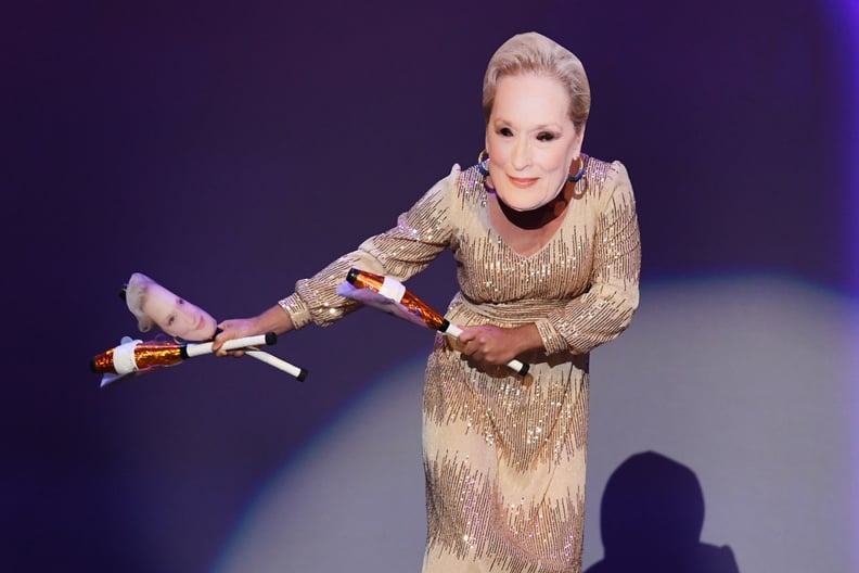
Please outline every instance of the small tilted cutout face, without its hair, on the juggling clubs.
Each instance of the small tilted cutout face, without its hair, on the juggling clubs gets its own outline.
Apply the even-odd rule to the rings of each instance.
[[[157,283],[151,283],[142,305],[143,313],[171,336],[206,341],[215,335],[215,319]]]

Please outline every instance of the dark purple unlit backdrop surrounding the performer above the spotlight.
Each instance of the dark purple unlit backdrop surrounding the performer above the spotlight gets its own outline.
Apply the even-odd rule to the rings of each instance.
[[[644,284],[765,272],[855,295],[857,62],[833,2],[39,2],[0,23],[0,569],[204,571],[267,475],[431,335],[369,311],[284,338],[305,384],[200,359],[98,390],[145,272],[256,314],[483,147],[510,35],[576,52]],[[846,5],[846,4],[845,4]],[[852,182],[851,182],[852,181]],[[410,286],[444,308],[449,256]],[[153,540],[163,555],[153,555]]]

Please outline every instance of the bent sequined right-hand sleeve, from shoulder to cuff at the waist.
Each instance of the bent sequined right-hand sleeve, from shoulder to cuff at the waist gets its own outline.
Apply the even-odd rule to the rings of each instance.
[[[586,354],[620,334],[639,303],[641,241],[636,201],[626,168],[608,166],[597,196],[590,289],[537,321],[547,354]]]

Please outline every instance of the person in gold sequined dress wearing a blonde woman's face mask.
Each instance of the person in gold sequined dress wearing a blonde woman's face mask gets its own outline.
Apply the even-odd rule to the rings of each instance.
[[[589,353],[638,307],[640,239],[619,162],[581,152],[590,88],[580,61],[536,33],[504,42],[484,79],[486,149],[262,314],[226,320],[223,341],[359,305],[336,294],[350,268],[405,281],[444,250],[459,292],[423,398],[424,573],[579,572]],[[223,353],[221,353],[223,354]],[[530,365],[522,377],[505,365]]]

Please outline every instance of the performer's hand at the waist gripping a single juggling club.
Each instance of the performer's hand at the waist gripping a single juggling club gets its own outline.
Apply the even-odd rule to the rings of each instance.
[[[535,324],[500,328],[491,324],[467,327],[459,335],[462,354],[488,365],[505,365],[520,354],[542,346]]]

